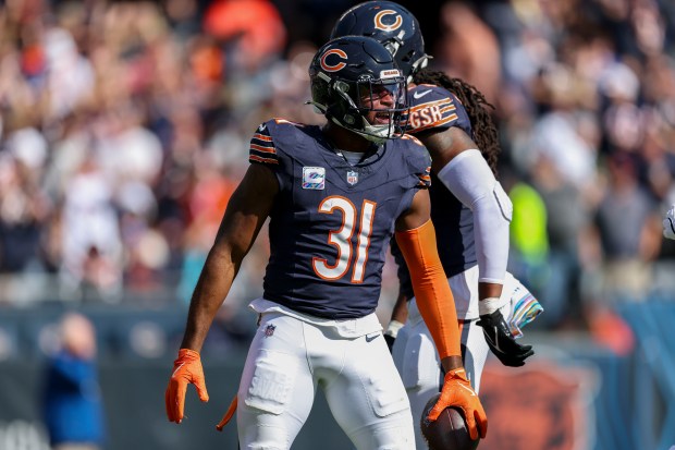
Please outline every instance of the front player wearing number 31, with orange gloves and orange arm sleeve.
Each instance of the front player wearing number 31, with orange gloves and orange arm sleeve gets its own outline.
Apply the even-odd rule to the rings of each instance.
[[[266,219],[270,259],[263,296],[237,396],[241,448],[290,449],[317,387],[360,450],[412,450],[414,425],[405,388],[375,309],[395,233],[418,308],[446,370],[429,415],[461,408],[474,437],[487,417],[462,366],[451,290],[430,221],[430,158],[403,134],[406,83],[389,51],[367,37],[322,46],[309,76],[310,104],[323,126],[282,119],[250,141],[250,166],[225,210],[189,306],[165,392],[169,421],[184,417],[186,387],[208,400],[199,351]]]

